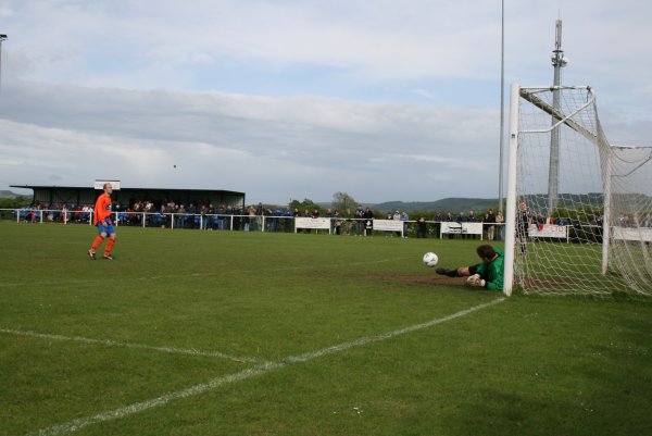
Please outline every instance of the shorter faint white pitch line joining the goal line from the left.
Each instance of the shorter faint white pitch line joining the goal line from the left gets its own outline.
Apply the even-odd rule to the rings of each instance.
[[[154,347],[151,345],[145,344],[134,344],[134,342],[123,342],[120,340],[112,339],[92,339],[82,336],[63,336],[63,335],[51,335],[46,333],[37,333],[30,331],[16,331],[12,328],[0,328],[0,333],[5,333],[10,335],[18,335],[18,336],[28,336],[39,339],[50,339],[50,340],[67,340],[83,344],[92,344],[92,345],[103,345],[108,347],[126,347],[126,348],[139,348],[145,350],[153,350],[153,351],[162,351],[168,353],[177,353],[177,354],[190,354],[190,356],[201,356],[209,358],[221,358],[228,359],[236,362],[243,363],[261,363],[264,362],[263,359],[258,358],[240,358],[236,356],[226,354],[220,351],[202,351],[193,348],[174,348],[174,347]]]

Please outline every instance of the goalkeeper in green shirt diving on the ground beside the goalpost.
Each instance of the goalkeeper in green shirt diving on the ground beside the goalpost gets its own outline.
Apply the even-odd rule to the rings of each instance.
[[[449,277],[467,277],[466,286],[502,290],[504,282],[504,252],[500,247],[479,246],[476,249],[481,263],[456,270],[438,267],[437,274]]]

